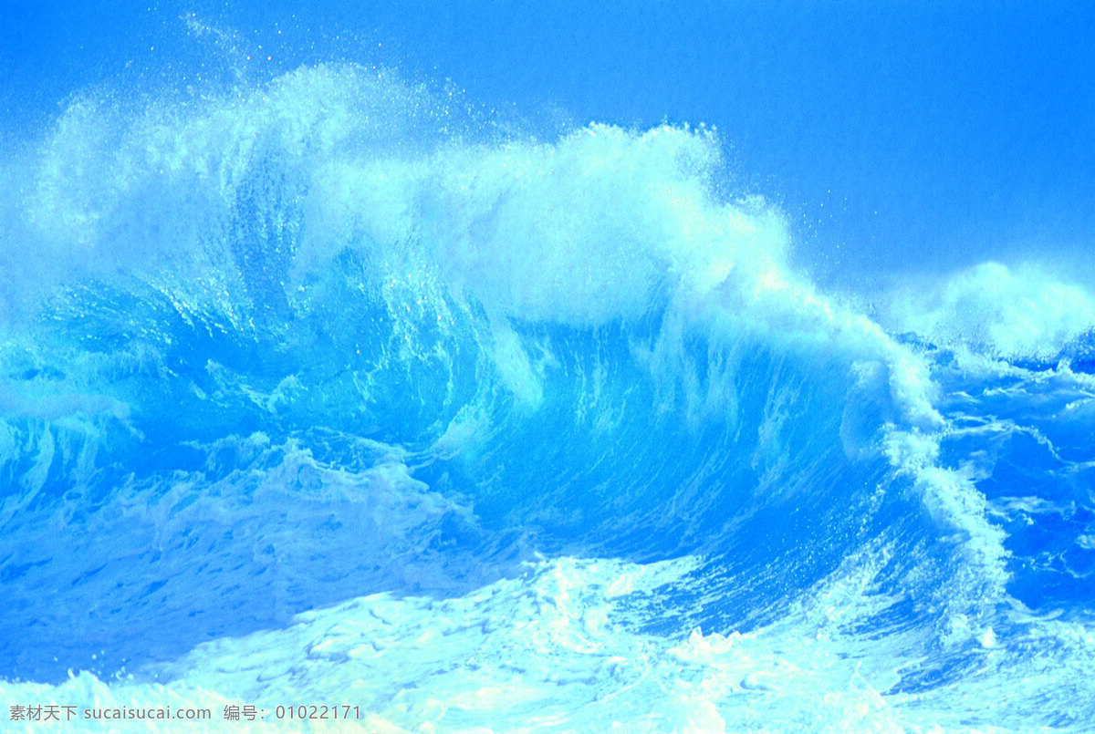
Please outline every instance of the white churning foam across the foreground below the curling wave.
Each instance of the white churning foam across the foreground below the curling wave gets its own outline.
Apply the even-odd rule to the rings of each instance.
[[[311,731],[276,718],[278,706],[310,702],[358,707],[359,719],[337,723],[348,732],[1016,731],[1049,723],[1040,707],[1054,688],[1077,713],[1090,708],[1082,673],[1095,638],[1048,622],[1001,638],[956,618],[949,644],[972,651],[980,671],[934,690],[895,692],[932,640],[925,630],[879,636],[863,627],[896,601],[876,589],[890,558],[885,547],[850,557],[783,619],[748,633],[636,630],[659,590],[681,583],[699,559],[558,558],[460,597],[377,594],[304,613],[285,629],[204,643],[110,685],[82,673],[58,686],[0,683],[0,694],[5,702],[81,711],[209,709],[211,724],[185,724],[194,732],[247,726],[223,720],[226,707],[245,704],[263,712],[263,731]],[[1039,638],[1050,644],[1033,646]],[[1060,691],[1060,665],[1077,672],[1068,691]],[[150,680],[153,674],[166,683]],[[1017,677],[1026,685],[1014,686]],[[971,703],[956,710],[955,696]],[[35,726],[11,722],[8,731]]]

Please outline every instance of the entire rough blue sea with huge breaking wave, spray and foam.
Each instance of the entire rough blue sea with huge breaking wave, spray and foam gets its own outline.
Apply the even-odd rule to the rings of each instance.
[[[724,159],[349,62],[69,98],[0,179],[0,729],[1087,730],[1091,290],[827,289]]]

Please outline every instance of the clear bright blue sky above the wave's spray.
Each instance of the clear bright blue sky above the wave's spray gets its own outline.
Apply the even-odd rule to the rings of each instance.
[[[90,84],[193,74],[194,12],[270,71],[380,62],[533,125],[714,125],[733,185],[780,203],[821,278],[1079,261],[1095,238],[1086,2],[47,4],[0,0],[8,136]]]

